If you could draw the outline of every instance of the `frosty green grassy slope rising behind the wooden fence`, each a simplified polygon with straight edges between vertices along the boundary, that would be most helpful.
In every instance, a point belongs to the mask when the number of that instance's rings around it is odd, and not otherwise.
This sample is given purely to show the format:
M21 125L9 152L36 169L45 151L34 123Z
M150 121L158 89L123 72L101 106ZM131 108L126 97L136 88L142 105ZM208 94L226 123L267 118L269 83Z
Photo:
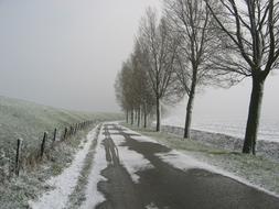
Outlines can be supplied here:
M0 152L12 152L15 140L22 138L24 144L34 146L44 131L54 128L60 131L71 123L84 120L116 120L116 113L88 113L55 109L29 101L0 97Z

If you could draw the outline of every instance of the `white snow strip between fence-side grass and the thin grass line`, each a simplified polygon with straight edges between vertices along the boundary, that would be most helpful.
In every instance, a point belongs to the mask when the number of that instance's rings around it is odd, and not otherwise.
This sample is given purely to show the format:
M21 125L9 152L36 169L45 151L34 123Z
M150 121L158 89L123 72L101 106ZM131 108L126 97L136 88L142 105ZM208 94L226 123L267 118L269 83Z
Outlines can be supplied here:
M54 187L43 194L37 201L30 201L29 205L33 209L62 209L66 206L68 196L74 191L77 184L79 173L84 166L85 157L94 141L96 128L87 135L87 141L83 142L83 148L79 150L71 166L65 168L58 176L52 177L46 182L47 185Z

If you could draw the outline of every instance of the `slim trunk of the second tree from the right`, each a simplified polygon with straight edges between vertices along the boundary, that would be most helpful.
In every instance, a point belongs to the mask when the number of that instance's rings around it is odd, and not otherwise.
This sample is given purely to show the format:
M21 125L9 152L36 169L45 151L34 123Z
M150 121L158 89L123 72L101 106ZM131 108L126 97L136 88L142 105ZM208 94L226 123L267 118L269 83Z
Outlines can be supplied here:
M196 76L197 76L197 68L193 67L192 84L191 84L191 90L190 90L189 99L187 99L187 107L186 107L184 139L191 138L190 131L191 131L192 113L193 113L193 106L194 106L194 98L195 98Z

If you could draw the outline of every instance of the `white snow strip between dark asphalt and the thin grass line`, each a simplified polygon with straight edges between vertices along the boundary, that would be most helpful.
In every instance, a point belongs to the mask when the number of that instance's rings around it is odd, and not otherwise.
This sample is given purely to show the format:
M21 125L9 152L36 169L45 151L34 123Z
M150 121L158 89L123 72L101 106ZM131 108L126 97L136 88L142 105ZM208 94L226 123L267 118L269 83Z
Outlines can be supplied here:
M104 135L99 136L98 139L96 153L93 162L93 168L92 173L89 174L88 184L86 187L86 201L82 205L81 209L95 208L98 204L106 200L104 195L100 191L98 191L97 188L97 184L100 180L107 180L100 174L100 172L107 167L107 162L105 160L106 153L105 148L101 145L104 139L105 139Z

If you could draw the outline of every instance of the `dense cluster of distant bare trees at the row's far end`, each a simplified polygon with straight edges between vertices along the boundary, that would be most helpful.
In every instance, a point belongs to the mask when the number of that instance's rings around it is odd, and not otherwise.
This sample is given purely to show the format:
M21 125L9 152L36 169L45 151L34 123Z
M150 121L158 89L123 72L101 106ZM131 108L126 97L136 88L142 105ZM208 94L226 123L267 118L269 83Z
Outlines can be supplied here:
M126 112L126 121L140 125L143 118L144 128L154 106L146 66L146 54L140 50L139 43L136 43L135 52L122 63L115 82L116 98Z

